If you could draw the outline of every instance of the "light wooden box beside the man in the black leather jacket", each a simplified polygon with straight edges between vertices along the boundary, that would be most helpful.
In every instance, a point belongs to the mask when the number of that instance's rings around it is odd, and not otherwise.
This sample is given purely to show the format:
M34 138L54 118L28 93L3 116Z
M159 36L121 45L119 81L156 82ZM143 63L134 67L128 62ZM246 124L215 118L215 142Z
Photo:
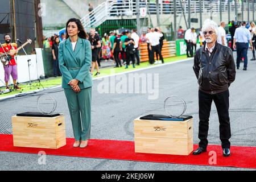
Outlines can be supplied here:
M193 118L187 121L134 120L135 152L189 155L193 151Z

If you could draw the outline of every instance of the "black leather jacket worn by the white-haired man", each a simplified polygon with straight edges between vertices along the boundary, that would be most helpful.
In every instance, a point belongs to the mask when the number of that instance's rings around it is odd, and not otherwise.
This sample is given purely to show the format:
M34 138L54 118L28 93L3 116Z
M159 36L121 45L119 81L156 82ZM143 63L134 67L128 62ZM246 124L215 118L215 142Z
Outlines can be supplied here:
M209 94L225 92L236 78L232 50L216 43L209 56L205 46L197 49L193 70L201 91Z

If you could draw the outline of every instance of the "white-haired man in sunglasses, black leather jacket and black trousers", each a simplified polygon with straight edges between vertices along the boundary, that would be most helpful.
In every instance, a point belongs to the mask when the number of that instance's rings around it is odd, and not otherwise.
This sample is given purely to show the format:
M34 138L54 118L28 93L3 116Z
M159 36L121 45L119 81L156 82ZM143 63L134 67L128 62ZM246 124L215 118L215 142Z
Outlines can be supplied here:
M207 151L207 135L212 101L220 122L220 140L223 156L230 155L229 86L236 77L232 50L217 43L217 24L205 21L202 28L205 45L197 49L193 70L199 83L199 148L193 155Z

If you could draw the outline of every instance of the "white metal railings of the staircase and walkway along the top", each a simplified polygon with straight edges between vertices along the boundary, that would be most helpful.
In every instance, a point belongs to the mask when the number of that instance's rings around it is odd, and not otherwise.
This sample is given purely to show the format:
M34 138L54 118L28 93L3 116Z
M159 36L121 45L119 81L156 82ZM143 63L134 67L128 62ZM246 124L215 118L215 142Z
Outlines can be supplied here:
M175 0L176 1L176 10L174 10L174 0L159 0L159 14L174 14L182 15L183 13L191 15L200 13L212 12L216 13L225 13L230 11L230 13L247 11L255 11L256 1L248 0L245 1L225 1L225 0ZM201 2L201 9L200 9ZM243 2L243 3L242 3ZM145 7L148 14L156 14L157 6L156 2L152 0L140 1L139 5L136 3L136 0L126 0L126 1L117 1L117 0L107 0L101 5L97 6L92 13L85 15L81 20L85 27L97 27L101 23L105 22L107 19L111 19L113 16L135 16L137 15L137 6ZM189 11L190 10L190 11ZM112 18L113 19L113 18ZM97 20L97 21L96 21Z

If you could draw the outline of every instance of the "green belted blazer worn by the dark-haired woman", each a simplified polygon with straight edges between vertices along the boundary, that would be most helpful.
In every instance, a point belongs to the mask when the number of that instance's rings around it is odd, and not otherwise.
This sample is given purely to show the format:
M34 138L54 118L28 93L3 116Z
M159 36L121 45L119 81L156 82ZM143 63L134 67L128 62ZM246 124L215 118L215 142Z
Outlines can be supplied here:
M91 65L92 49L88 40L79 38L75 52L69 38L60 43L59 67L62 73L62 88L72 89L68 82L75 78L79 80L80 89L91 87L93 85L90 75Z

